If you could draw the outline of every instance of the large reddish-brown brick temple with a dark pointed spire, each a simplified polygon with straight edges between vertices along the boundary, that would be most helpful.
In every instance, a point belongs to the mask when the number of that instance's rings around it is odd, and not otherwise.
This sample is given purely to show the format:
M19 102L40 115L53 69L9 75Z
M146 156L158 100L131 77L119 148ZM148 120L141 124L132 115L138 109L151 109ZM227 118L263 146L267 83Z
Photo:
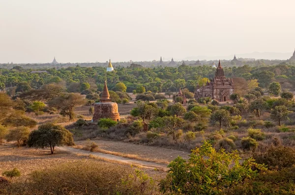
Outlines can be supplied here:
M217 101L229 101L233 93L234 81L224 76L224 71L219 60L214 79L210 79L210 82L207 81L203 86L197 85L195 99L211 97Z

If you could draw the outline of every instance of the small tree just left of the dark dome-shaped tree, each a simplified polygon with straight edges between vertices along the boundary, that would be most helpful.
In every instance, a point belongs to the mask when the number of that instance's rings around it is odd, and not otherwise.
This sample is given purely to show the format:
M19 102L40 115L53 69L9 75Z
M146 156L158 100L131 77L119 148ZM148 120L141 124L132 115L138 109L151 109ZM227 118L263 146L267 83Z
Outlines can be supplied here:
M21 142L26 142L29 138L29 128L25 126L21 126L15 129L12 129L7 134L7 141L16 141L17 147L19 148L21 145Z

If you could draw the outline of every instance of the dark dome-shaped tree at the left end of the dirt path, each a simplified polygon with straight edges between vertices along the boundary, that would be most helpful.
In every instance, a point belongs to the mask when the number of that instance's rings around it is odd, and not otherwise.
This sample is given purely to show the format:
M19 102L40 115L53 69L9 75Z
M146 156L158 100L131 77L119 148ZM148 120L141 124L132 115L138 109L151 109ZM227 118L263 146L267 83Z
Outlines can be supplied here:
M73 135L60 125L45 123L33 130L29 134L28 146L34 148L50 147L51 154L56 146L72 146L74 144Z

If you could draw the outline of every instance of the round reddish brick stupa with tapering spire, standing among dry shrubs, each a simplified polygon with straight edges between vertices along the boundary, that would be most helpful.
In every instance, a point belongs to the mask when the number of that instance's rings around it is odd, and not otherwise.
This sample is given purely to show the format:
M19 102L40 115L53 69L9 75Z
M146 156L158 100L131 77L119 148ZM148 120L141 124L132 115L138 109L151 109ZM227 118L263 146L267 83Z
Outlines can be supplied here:
M99 101L99 103L94 104L93 121L98 121L102 118L110 118L114 121L120 120L118 104L116 102L112 102L112 99L110 99L106 81Z

